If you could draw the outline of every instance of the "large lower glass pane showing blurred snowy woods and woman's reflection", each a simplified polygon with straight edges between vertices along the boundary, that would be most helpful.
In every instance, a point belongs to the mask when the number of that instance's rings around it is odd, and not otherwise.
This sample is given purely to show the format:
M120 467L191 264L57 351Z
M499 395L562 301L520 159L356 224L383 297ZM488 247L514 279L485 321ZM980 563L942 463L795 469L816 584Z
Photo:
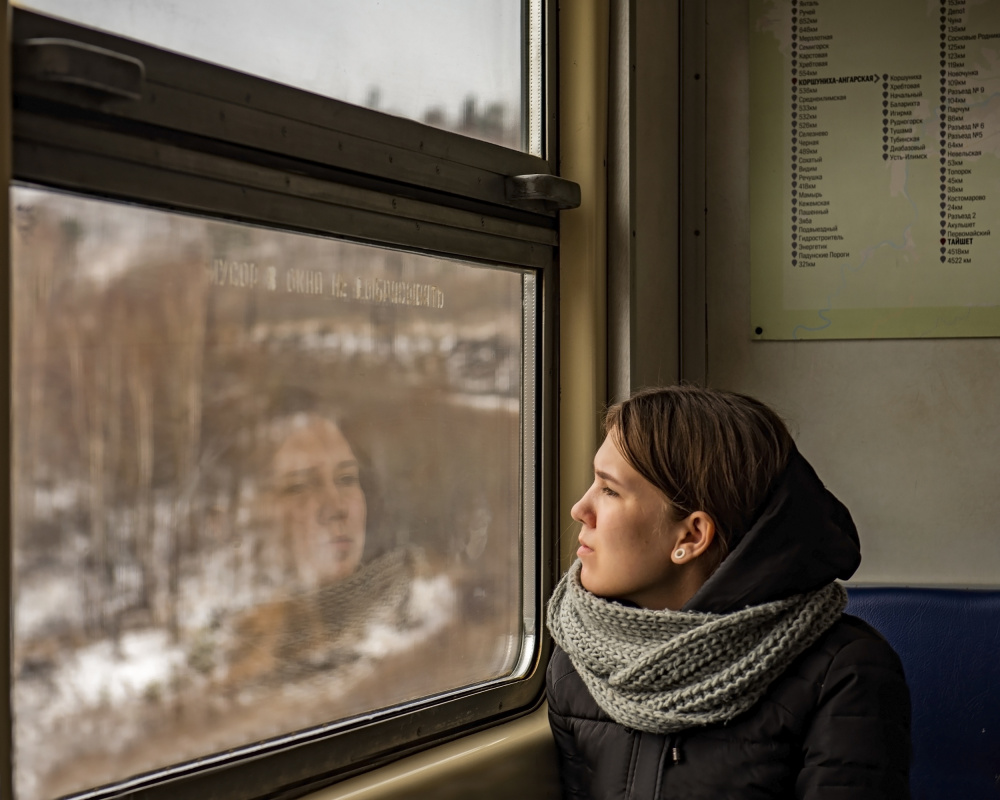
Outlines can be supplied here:
M516 671L533 274L12 208L18 800Z

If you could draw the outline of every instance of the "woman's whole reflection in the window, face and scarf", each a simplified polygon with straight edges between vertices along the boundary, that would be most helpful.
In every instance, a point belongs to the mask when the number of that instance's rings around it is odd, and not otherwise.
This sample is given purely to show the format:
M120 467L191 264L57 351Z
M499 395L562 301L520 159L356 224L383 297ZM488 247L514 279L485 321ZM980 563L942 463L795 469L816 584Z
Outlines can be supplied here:
M405 649L445 624L450 612L441 605L453 589L426 578L418 550L367 555L367 471L341 426L303 412L270 431L263 499L291 591L237 622L230 682L329 673Z

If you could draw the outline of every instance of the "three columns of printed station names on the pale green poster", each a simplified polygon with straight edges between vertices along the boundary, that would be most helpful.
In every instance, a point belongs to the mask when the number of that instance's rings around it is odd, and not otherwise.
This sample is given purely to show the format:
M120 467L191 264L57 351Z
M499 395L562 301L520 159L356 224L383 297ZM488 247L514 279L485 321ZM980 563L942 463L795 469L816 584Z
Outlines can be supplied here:
M824 120L832 120L837 106L848 100L848 93L855 88L851 84L873 83L881 84L882 159L940 159L940 260L971 263L974 240L991 232L980 224L989 198L966 189L973 174L970 162L982 154L976 143L983 138L985 127L981 120L970 118L970 101L984 89L972 85L979 70L969 63L967 47L970 41L998 38L1000 33L969 32L967 0L940 0L941 47L940 54L934 55L940 55L941 91L940 98L933 96L933 90L927 97L922 72L830 76L827 67L835 35L823 29L822 17L827 10L824 7L830 6L831 14L836 8L822 0L791 0L791 5L792 266L815 267L826 260L851 256L837 209L823 190L824 174L833 166L829 158L824 162L824 142L830 135ZM921 109L928 107L922 105L925 97L931 101L929 120L921 116ZM939 104L933 102L938 99ZM928 143L922 130L928 122L932 128L935 119L939 121L940 140Z

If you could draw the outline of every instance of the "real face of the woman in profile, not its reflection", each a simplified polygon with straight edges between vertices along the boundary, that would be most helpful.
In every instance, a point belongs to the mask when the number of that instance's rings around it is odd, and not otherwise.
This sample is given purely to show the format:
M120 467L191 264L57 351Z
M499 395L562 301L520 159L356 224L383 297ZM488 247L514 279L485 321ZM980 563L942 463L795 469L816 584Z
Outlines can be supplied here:
M583 587L641 608L667 608L679 567L671 560L678 523L660 491L622 456L608 435L594 456L594 483L573 506Z

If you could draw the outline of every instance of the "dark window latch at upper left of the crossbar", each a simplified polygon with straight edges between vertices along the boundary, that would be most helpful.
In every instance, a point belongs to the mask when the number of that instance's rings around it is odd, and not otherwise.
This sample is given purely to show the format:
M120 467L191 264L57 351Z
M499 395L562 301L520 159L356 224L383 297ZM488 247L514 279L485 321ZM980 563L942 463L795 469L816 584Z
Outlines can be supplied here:
M127 100L142 98L146 74L138 58L72 39L56 38L17 43L14 70L21 78L67 84Z

